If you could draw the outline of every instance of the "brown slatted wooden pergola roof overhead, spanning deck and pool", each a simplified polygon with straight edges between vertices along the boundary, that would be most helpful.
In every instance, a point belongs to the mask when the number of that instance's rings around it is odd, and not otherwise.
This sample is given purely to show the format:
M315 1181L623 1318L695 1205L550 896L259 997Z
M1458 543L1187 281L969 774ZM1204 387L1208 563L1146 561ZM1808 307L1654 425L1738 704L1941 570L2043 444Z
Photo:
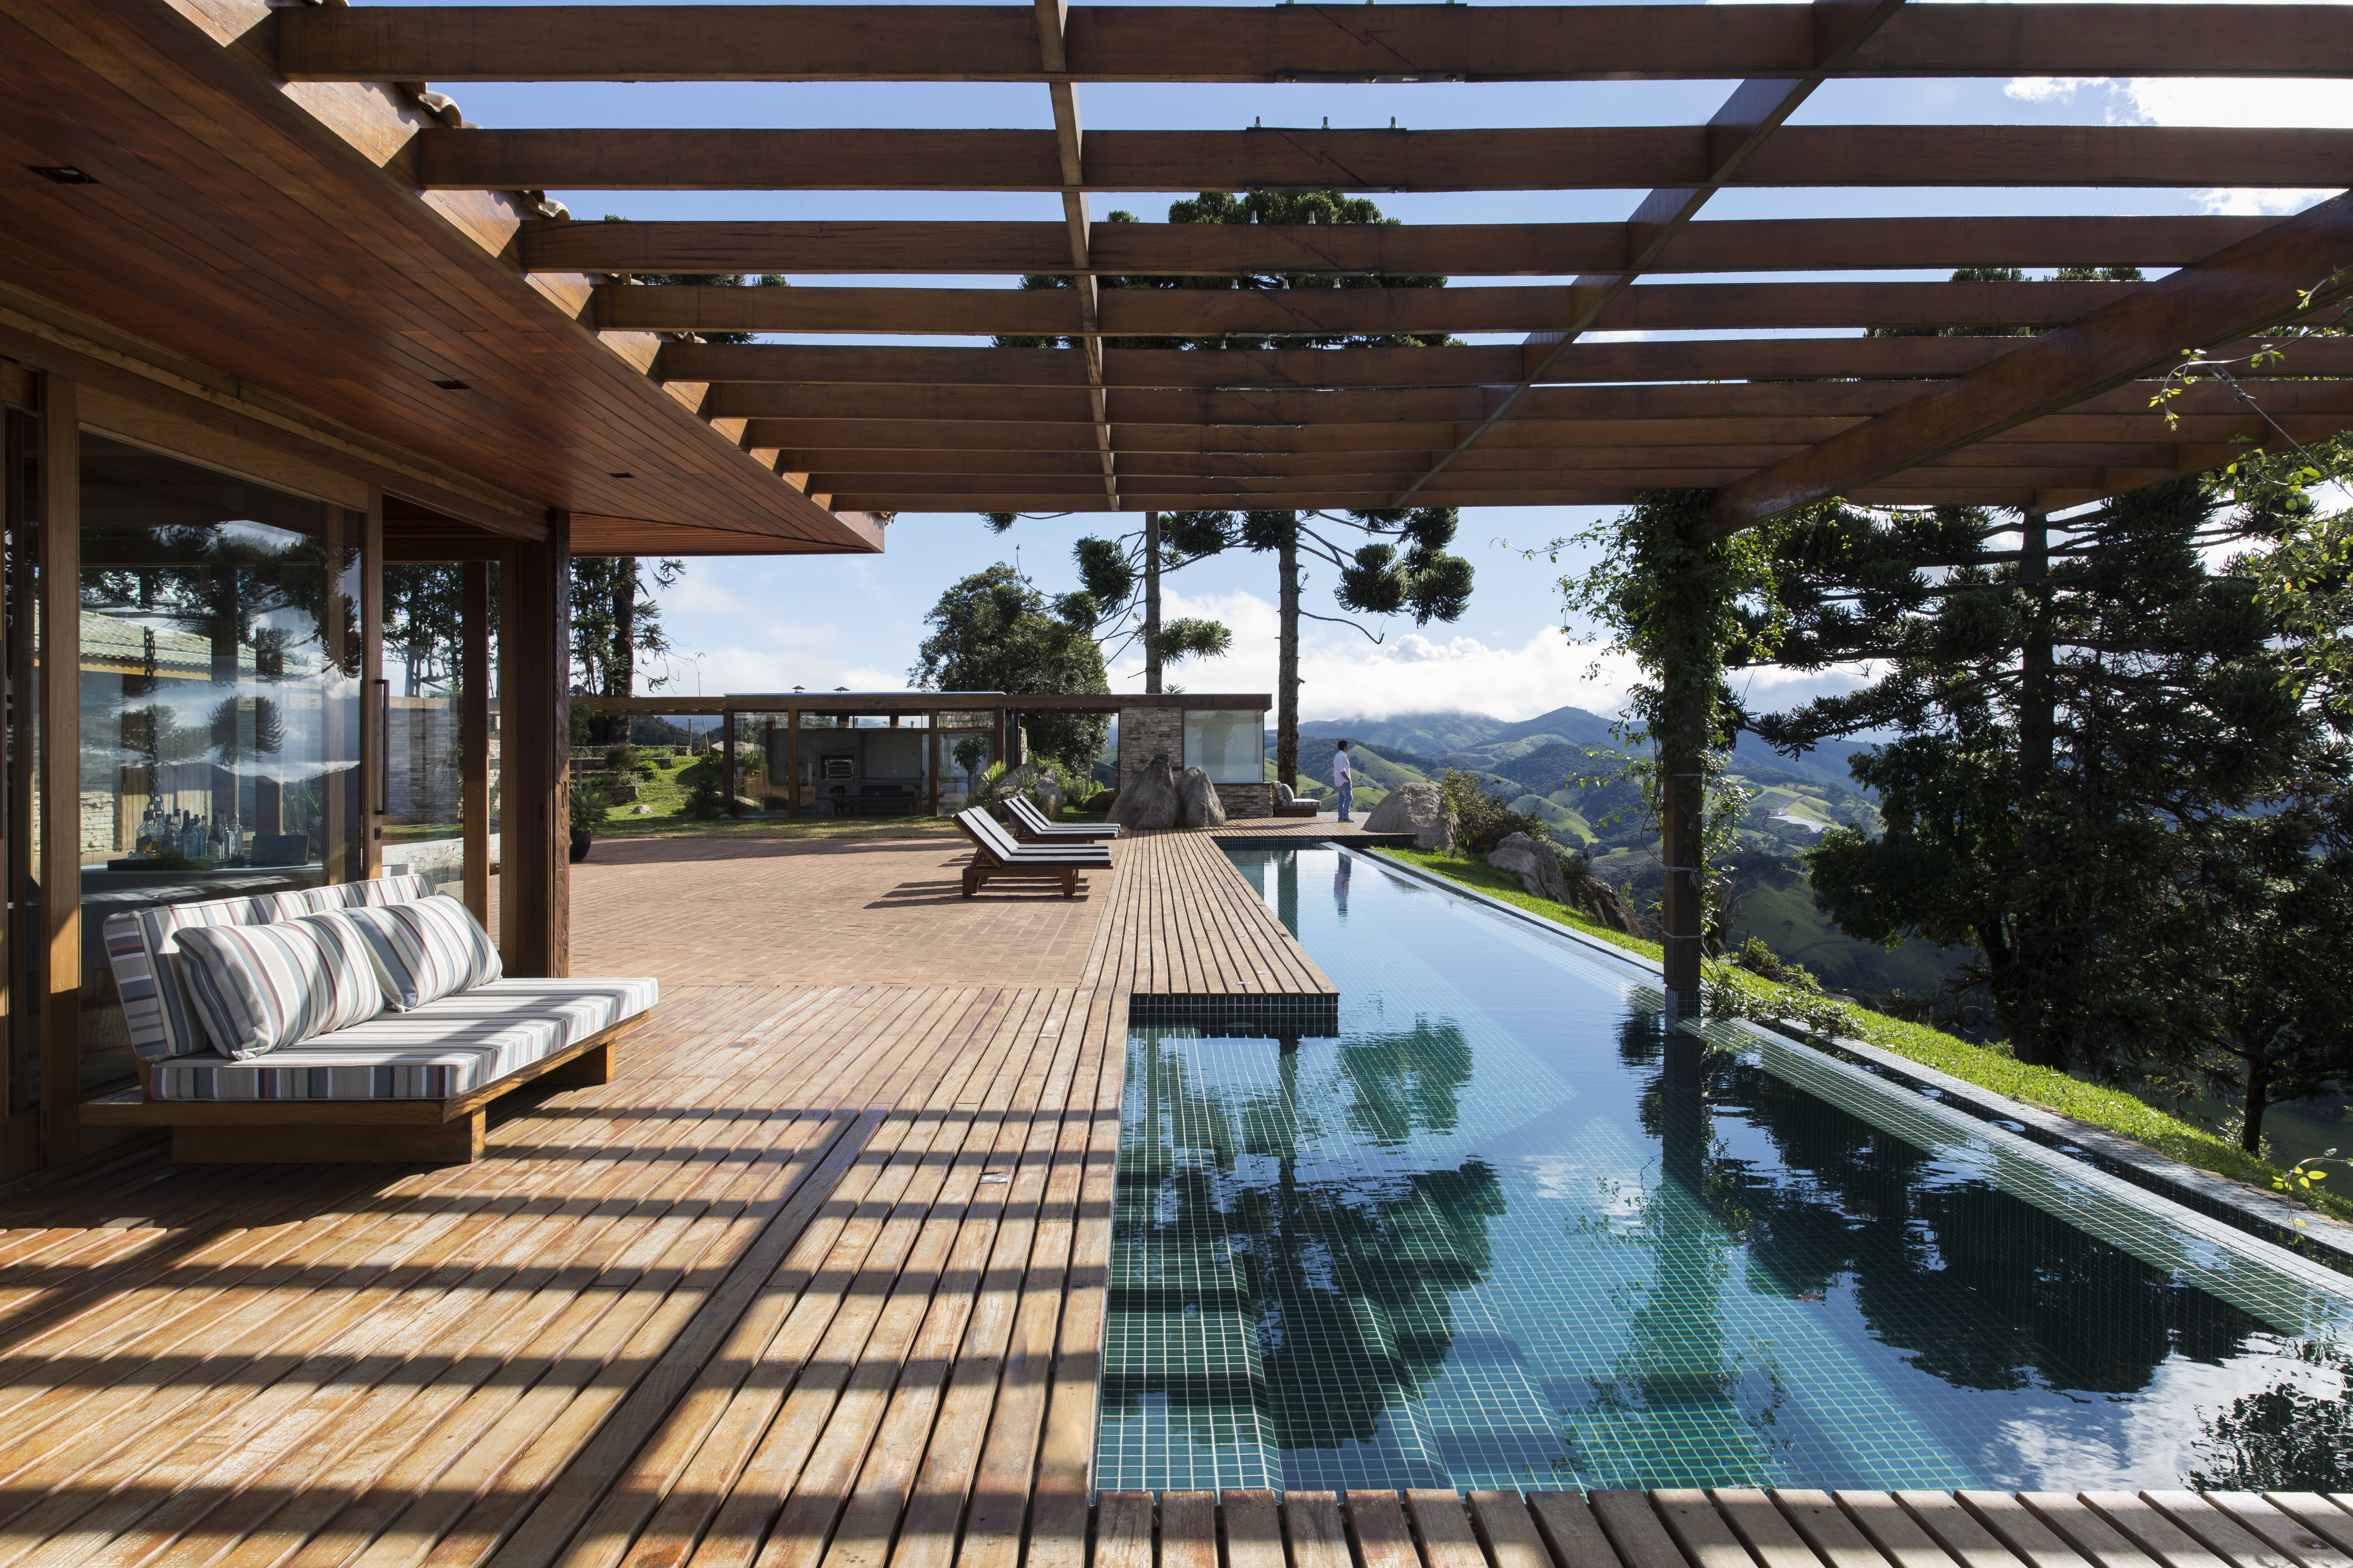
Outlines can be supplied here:
M2344 183L2353 132L1802 125L1835 78L2344 75L2329 5L294 7L296 82L1040 82L1054 129L478 129L414 141L433 190L1038 190L1064 223L532 221L529 270L600 277L600 331L840 510L1621 503L1718 489L1722 529L1821 496L2049 510L2353 418L2353 346L2264 388L2146 386L2186 348L2332 299L2353 214L1701 221L1725 188ZM1706 125L1082 132L1080 85L1744 78ZM454 118L454 115L449 115ZM1094 226L1089 190L1607 190L1624 223ZM2174 268L2113 282L1673 282L1955 266ZM638 287L638 273L1066 273L1071 289ZM1442 289L1096 289L1099 275L1445 273ZM1553 277L1511 284L1497 277ZM2320 294L2306 296L2306 289ZM2033 339L1744 339L2028 327ZM1593 334L1718 339L1591 341ZM715 346L704 331L842 334ZM1464 348L1104 348L1214 334L1518 334ZM859 346L1038 334L1078 348Z

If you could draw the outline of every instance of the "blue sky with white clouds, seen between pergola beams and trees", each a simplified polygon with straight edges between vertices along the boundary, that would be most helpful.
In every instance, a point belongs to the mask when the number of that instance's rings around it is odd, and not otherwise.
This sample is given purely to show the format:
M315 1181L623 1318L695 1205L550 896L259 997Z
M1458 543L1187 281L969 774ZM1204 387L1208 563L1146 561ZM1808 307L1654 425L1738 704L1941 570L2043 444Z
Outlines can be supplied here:
M1918 0L1915 0L1918 2ZM1706 120L1732 82L1562 82L1562 85L1209 85L1082 87L1080 120L1094 129L1238 129L1268 125L1412 129L1480 125L1692 125ZM842 85L842 82L647 82L449 87L468 120L487 127L1007 127L1052 125L1038 85ZM1831 82L1800 125L2353 125L2353 87L2341 82ZM600 193L555 190L576 219L1033 219L1059 221L1045 193ZM1706 219L1901 216L1901 214L2177 214L2294 212L2315 190L1729 190ZM1096 219L1125 207L1146 221L1167 216L1169 195L1096 195ZM1379 197L1409 223L1527 223L1624 219L1635 190L1438 193ZM1729 277L1729 275L1727 275ZM1777 273L1774 277L1793 277ZM1918 273L1882 273L1918 277ZM795 277L807 284L896 282L932 287L1014 287L1012 277ZM1541 282L1541 280L1497 280ZM1699 280L1694 280L1699 282ZM1475 284L1473 284L1475 287ZM1704 336L1704 334L1689 334ZM788 339L776 339L788 341ZM807 339L819 341L819 339ZM821 339L840 341L840 339ZM892 341L892 339L868 339ZM976 339L896 339L960 343ZM1473 339L1501 341L1501 339ZM1301 712L1379 717L1426 708L1468 708L1529 717L1558 705L1612 710L1628 670L1562 635L1558 578L1565 564L1527 562L1522 550L1579 534L1600 508L1466 510L1457 548L1478 569L1471 611L1457 625L1344 625L1304 635ZM1047 592L1075 588L1071 541L1118 534L1136 515L1026 520L993 536L967 512L901 515L880 557L696 559L664 595L680 658L671 691L779 691L805 686L896 689L922 639L922 616L955 578L1016 559ZM1167 614L1209 614L1235 630L1235 649L1174 679L1195 691L1273 686L1273 567L1238 555L1188 567L1167 583ZM1308 576L1304 604L1337 614L1332 571ZM1581 632L1581 628L1572 628ZM699 656L699 658L696 658ZM659 677L661 670L649 672ZM1831 684L1847 684L1833 677ZM1115 689L1139 689L1132 658L1113 665ZM1762 675L1753 701L1781 705L1819 682Z

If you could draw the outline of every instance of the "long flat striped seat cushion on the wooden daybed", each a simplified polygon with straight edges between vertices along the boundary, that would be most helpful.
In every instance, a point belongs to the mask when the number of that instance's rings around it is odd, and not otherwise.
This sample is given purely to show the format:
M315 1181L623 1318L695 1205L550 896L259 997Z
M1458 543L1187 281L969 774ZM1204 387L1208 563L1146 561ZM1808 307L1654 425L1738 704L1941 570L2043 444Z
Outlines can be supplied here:
M492 980L268 1056L176 1058L155 1100L447 1100L654 1006L654 980Z

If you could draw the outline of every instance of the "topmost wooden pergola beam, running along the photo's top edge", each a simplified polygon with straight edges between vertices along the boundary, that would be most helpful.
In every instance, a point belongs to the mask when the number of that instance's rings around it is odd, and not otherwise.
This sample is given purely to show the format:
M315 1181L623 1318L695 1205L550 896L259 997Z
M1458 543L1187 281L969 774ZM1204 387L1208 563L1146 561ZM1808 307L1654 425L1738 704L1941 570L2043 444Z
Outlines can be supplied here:
M2346 75L2327 5L1922 7L1842 75ZM1814 68L1802 5L1073 7L1040 61L1012 5L318 7L278 16L296 82L1732 80Z

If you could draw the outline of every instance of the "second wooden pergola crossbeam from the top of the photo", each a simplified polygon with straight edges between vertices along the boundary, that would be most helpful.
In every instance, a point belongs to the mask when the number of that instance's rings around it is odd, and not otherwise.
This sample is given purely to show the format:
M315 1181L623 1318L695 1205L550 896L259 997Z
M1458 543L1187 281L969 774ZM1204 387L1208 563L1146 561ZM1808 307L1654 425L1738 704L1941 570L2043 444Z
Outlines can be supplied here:
M426 190L1626 190L1715 179L1711 129L1094 132L1071 181L1054 132L433 129ZM2353 129L1802 125L1722 183L2332 186Z

